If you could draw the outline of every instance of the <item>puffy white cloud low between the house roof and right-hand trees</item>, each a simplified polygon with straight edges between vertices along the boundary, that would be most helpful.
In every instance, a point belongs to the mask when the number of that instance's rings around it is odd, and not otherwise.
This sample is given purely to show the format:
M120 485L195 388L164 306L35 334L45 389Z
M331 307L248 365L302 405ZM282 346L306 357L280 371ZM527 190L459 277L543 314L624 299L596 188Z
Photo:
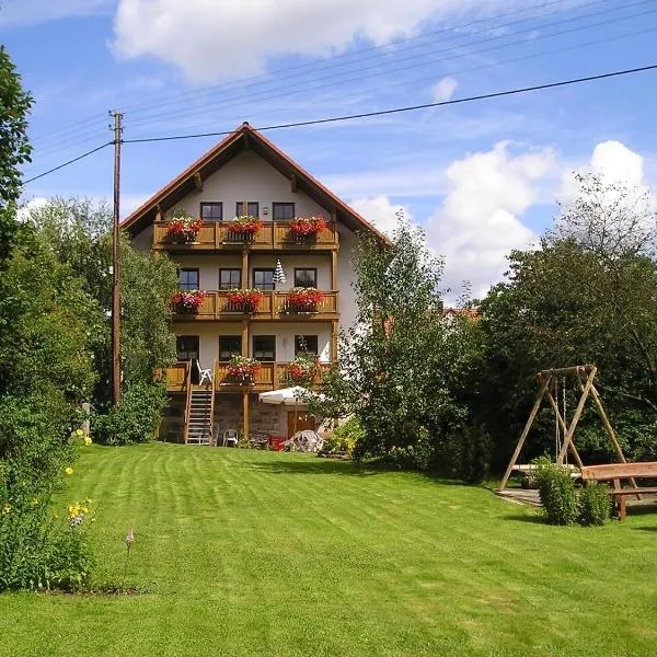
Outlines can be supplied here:
M535 234L520 217L539 199L539 181L555 164L550 149L514 154L509 142L453 162L449 192L426 226L429 245L446 256L445 284L457 296L464 280L475 297L499 280L511 249Z

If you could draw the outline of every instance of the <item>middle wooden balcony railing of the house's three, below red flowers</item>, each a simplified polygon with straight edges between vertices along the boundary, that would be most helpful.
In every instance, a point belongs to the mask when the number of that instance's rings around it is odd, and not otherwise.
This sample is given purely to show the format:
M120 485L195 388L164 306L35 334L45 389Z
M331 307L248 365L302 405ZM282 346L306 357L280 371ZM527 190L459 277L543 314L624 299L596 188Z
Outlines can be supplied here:
M326 322L339 319L337 292L323 292L324 299L312 312L297 312L287 300L287 292L264 292L254 313L245 313L228 300L228 290L207 292L197 313L174 313L176 322L241 322L283 320L286 322Z

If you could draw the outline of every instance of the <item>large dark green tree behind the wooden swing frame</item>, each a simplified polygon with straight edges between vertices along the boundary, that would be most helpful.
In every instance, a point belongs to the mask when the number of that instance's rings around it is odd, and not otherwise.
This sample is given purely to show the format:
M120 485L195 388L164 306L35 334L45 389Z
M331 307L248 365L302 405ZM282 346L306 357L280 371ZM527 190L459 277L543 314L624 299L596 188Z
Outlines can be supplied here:
M534 373L588 362L599 368L598 385L613 420L634 427L634 438L621 433L630 451L645 456L657 445L652 205L641 191L607 187L595 176L578 180L579 195L562 208L541 247L511 253L507 280L482 303L487 385L475 405L497 437L500 460L529 412ZM573 402L577 391L575 385ZM532 443L539 452L554 440L548 422L545 416L542 440ZM603 457L593 426L585 414L583 433Z

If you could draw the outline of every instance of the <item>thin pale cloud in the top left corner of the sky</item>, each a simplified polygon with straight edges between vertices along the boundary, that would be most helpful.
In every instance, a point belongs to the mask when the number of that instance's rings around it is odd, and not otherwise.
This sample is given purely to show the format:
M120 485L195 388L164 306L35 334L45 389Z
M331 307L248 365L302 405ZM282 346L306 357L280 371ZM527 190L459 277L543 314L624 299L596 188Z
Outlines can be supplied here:
M113 5L113 0L8 0L0 9L0 26L34 25L104 13Z

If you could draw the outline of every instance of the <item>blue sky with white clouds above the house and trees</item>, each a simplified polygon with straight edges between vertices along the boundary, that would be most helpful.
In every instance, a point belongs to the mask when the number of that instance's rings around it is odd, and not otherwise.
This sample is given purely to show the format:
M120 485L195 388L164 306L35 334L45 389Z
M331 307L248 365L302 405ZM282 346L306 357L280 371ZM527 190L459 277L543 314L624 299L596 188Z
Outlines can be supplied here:
M36 100L26 177L111 139L222 131L657 64L655 0L4 0L1 43ZM576 168L655 183L657 71L266 132L383 230L402 207L485 292L535 242ZM126 145L129 211L218 138ZM25 199L111 197L112 151ZM124 212L124 214L125 214Z

